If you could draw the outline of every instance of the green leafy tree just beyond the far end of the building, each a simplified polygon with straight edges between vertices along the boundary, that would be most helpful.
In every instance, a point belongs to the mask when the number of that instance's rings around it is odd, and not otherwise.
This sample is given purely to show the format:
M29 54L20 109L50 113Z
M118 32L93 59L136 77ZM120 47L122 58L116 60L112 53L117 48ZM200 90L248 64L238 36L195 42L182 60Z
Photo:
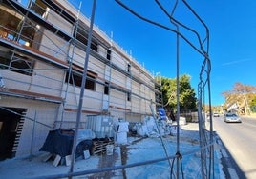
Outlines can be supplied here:
M194 110L196 109L196 94L195 89L190 85L191 77L187 74L180 77L180 109ZM163 105L167 111L177 110L177 79L161 77L161 87L163 96Z

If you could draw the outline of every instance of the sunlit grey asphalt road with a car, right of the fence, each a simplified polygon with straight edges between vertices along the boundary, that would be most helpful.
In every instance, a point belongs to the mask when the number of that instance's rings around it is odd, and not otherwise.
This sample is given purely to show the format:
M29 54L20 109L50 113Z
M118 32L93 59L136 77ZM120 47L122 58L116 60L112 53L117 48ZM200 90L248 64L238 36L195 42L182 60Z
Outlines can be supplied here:
M255 179L256 118L244 117L242 123L225 123L223 116L213 117L213 129L221 138L228 154L234 159L234 166L237 164L239 170L244 172L245 178ZM234 169L238 170L236 167Z

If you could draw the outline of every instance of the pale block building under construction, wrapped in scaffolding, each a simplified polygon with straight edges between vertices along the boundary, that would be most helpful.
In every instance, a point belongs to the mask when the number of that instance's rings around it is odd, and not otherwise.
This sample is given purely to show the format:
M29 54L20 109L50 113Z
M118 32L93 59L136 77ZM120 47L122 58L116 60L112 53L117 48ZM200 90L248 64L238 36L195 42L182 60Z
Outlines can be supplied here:
M160 85L68 1L0 1L0 159L38 151L51 129L80 129L87 116L140 122L160 106Z

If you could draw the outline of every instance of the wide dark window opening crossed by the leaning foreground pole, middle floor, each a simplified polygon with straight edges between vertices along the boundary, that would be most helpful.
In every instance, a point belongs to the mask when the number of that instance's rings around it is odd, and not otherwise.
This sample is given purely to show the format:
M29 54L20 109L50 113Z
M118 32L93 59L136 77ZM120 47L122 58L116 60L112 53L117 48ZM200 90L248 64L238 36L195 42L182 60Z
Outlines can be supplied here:
M65 82L71 85L75 85L75 87L81 87L82 85L82 74L73 71L70 75L66 73ZM92 71L87 72L86 82L85 82L85 89L96 90L96 73Z

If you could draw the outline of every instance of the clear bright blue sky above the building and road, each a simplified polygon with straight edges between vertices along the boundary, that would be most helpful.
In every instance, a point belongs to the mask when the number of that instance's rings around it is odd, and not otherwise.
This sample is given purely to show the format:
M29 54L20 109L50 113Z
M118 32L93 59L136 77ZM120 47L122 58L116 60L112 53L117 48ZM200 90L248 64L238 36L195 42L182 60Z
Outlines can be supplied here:
M81 12L91 16L93 0L73 1L75 7L82 2ZM171 29L175 27L154 0L122 0L140 15ZM168 11L174 1L160 0ZM211 60L212 105L224 103L222 92L233 88L236 82L256 86L256 1L187 0L210 32L209 56ZM179 0L174 18L196 30L202 38L205 29ZM141 65L152 73L176 77L176 34L170 30L140 20L120 7L114 0L97 0L95 24L124 50L131 53ZM181 33L199 47L195 35L187 30ZM180 40L180 74L189 74L192 87L198 90L203 56Z

